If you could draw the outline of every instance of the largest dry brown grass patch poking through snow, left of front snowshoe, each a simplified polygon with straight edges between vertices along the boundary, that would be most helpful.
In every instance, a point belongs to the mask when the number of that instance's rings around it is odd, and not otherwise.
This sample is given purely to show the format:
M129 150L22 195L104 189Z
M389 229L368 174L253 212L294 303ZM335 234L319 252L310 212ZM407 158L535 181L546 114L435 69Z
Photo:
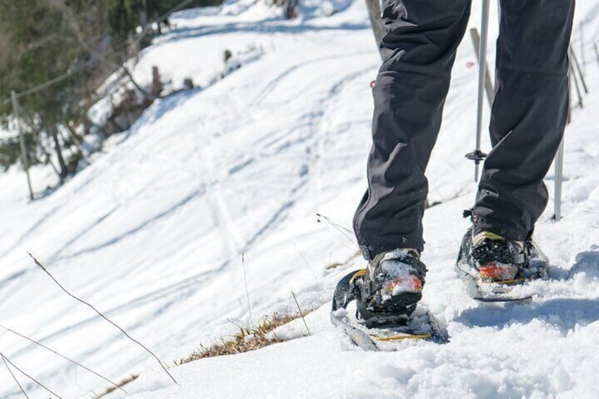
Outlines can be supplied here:
M309 312L307 312L309 313ZM305 314L304 314L305 316ZM205 357L215 357L223 355L235 355L237 353L249 352L250 350L260 349L275 343L282 343L283 340L278 338L271 332L283 324L287 324L296 318L302 317L301 314L280 315L273 313L273 316L265 318L259 325L244 328L239 328L239 333L232 335L229 340L221 338L220 342L215 342L208 347L200 346L198 350L194 350L188 357L176 360L175 365L194 362L194 360L203 359Z

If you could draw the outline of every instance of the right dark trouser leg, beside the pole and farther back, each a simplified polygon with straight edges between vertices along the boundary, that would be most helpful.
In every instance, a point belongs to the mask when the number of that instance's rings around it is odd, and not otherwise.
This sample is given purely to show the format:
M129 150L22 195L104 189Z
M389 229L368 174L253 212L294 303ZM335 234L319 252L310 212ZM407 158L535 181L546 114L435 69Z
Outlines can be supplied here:
M498 90L473 208L476 226L523 241L547 206L543 177L568 114L568 46L574 0L502 1Z

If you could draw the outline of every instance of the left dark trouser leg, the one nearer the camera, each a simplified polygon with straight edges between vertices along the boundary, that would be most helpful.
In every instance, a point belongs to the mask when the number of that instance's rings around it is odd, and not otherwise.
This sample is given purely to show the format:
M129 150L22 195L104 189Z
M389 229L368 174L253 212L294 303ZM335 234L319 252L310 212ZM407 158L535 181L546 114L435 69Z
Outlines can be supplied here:
M374 85L368 185L354 217L364 258L422 251L425 169L437 140L470 0L384 0L384 61Z

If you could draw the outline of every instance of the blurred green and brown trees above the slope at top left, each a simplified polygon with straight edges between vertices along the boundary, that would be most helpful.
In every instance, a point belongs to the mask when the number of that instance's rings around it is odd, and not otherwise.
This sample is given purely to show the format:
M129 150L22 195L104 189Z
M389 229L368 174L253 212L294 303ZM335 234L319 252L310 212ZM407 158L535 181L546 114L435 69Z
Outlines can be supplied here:
M0 167L17 163L25 148L25 165L50 164L61 181L73 173L90 130L106 136L129 127L93 126L88 119L100 85L114 73L128 78L129 104L115 104L115 112L141 113L162 93L160 84L143 88L131 76L138 52L169 27L174 11L222 1L0 0ZM14 133L17 120L23 145Z

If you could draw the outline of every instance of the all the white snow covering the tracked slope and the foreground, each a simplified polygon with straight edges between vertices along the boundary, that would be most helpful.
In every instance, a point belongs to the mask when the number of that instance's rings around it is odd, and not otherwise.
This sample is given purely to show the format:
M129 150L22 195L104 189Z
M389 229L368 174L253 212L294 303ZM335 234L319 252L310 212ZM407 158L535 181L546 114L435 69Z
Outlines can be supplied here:
M328 321L336 281L362 266L346 229L365 189L369 83L379 56L362 0L302 4L293 21L261 0L178 13L135 74L143 81L158 65L173 85L189 76L203 90L157 102L89 167L35 202L18 169L0 174L0 325L113 380L141 373L126 386L134 398L596 397L599 73L590 54L599 2L577 4L591 93L567 128L564 219L552 222L550 205L536 232L551 280L535 286L530 304L485 306L465 296L453 273L468 224L461 210L474 192L473 166L463 159L473 149L477 81L466 36L427 172L430 200L443 203L425 215L425 302L451 343L386 353L357 350ZM326 17L331 7L339 12ZM471 25L479 15L475 4ZM215 80L225 49L250 48L261 55ZM42 192L52 172L36 168L32 179ZM550 172L550 193L552 179ZM317 222L316 213L340 227ZM27 251L167 364L235 332L232 322L249 324L242 254L254 320L295 311L293 291L302 308L316 309L307 317L312 336L303 338L295 321L279 334L297 339L172 367L174 385L143 350L61 292ZM109 387L2 331L0 351L64 398ZM1 370L0 397L18 398ZM17 376L30 397L48 396Z

